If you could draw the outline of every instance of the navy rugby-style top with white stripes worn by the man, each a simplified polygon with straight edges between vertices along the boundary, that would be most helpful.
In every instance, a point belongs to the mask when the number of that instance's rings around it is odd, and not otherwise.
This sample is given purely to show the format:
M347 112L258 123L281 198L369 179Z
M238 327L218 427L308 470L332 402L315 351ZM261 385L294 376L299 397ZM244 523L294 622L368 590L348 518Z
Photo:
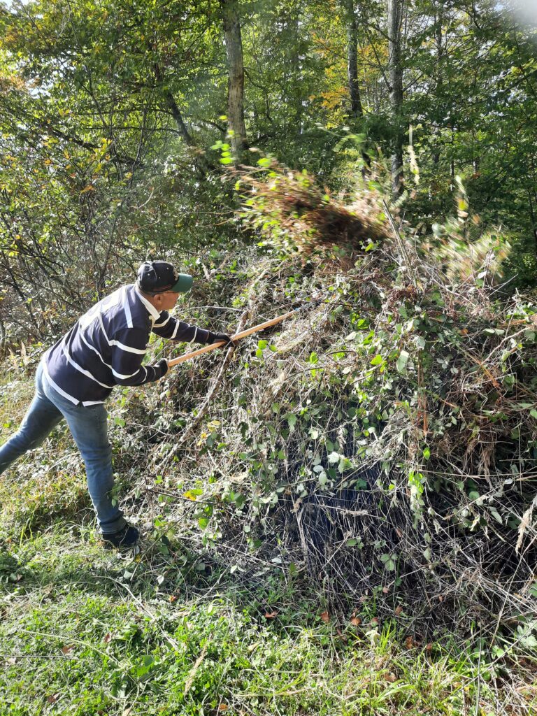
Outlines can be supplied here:
M210 332L159 313L135 285L122 286L95 304L44 355L50 384L75 405L102 403L115 385L142 385L162 377L143 366L150 333L207 343Z

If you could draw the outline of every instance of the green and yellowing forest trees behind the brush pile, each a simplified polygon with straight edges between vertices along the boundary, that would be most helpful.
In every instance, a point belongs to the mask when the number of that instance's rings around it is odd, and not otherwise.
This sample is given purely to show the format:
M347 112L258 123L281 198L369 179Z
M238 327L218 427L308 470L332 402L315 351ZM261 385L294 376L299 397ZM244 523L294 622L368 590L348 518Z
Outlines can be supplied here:
M218 176L270 155L342 195L374 170L417 236L462 201L533 286L536 32L493 0L4 4L10 336L57 332L54 306L71 320L140 254L233 236Z

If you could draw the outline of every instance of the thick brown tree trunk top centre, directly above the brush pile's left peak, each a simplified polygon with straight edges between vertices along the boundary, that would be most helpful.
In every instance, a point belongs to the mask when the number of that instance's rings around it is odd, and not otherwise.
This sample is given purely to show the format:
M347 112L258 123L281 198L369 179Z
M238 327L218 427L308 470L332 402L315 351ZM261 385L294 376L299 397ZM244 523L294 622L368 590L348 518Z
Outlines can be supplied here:
M233 154L236 162L240 162L246 145L241 19L237 0L221 0L221 8L228 58L228 127Z

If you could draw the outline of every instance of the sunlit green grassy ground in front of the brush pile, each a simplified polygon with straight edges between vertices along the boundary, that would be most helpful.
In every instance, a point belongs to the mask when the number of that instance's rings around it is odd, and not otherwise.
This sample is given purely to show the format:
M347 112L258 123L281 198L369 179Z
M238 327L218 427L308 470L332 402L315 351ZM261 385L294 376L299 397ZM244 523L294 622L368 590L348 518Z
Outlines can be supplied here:
M28 381L4 391L4 440ZM412 615L333 614L274 565L228 569L188 533L139 553L99 541L69 436L0 478L0 715L537 713L534 661Z

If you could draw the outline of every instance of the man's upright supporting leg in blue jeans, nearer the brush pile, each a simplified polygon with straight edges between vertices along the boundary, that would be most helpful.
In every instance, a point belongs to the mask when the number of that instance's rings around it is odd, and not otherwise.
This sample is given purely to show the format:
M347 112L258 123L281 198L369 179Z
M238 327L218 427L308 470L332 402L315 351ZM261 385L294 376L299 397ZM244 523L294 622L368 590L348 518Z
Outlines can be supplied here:
M52 397L56 401L57 393ZM117 503L112 504L110 495L114 477L105 406L102 403L89 407L62 404L61 410L86 466L87 488L100 529L105 534L117 532L127 523Z

